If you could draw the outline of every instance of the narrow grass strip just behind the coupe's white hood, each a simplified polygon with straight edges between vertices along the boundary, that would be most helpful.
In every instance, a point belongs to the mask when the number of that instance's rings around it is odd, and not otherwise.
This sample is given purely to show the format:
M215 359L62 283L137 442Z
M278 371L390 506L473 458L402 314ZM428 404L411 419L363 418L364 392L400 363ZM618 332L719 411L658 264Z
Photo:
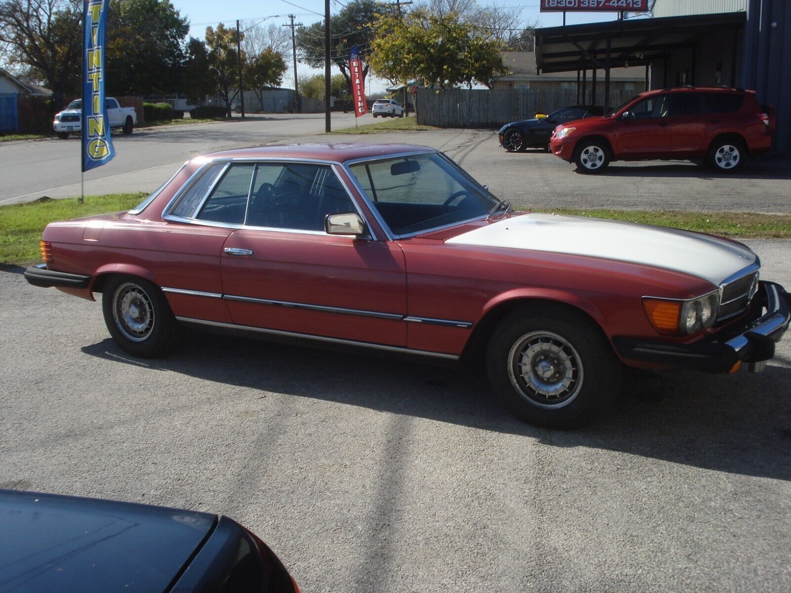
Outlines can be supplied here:
M791 215L752 212L689 212L685 210L606 210L553 208L539 209L557 214L573 214L673 229L708 232L711 235L753 238L791 237Z

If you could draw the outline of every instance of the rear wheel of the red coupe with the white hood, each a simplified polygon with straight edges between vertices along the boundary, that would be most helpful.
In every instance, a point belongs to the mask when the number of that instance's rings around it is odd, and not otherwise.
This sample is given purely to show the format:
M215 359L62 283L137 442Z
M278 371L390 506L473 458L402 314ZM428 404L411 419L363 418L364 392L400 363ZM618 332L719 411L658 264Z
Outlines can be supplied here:
M104 283L104 323L122 349L153 358L176 346L181 326L161 289L143 278L115 275Z

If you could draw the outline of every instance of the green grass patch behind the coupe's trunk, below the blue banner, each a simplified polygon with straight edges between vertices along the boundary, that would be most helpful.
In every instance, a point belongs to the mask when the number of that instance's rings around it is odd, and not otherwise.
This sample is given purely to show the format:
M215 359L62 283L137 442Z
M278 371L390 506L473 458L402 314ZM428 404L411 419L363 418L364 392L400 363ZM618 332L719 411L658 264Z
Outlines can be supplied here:
M39 263L39 241L44 227L51 221L129 210L142 202L146 194L112 194L46 200L0 206L0 263L27 266Z

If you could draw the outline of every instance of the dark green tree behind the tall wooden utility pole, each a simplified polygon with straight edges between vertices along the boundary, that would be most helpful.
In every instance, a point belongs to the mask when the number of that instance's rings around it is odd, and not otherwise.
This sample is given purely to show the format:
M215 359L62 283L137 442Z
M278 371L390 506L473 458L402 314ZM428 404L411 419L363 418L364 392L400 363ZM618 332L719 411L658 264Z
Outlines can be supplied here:
M354 45L365 61L373 42L373 22L379 13L391 13L392 8L374 0L351 0L339 13L330 17L330 59L339 67L351 88L349 76L349 51ZM297 29L297 51L300 61L319 68L324 66L324 21ZM362 76L368 74L368 63L362 68Z

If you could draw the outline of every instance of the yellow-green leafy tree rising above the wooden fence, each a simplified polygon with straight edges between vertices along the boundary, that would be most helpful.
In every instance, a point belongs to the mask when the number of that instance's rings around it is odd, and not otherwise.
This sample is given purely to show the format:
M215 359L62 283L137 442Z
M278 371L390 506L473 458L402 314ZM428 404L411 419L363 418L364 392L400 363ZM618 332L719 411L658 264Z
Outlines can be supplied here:
M440 89L479 82L491 88L507 70L503 43L479 31L477 25L417 9L403 19L380 17L369 63L380 77L406 84L417 78Z

